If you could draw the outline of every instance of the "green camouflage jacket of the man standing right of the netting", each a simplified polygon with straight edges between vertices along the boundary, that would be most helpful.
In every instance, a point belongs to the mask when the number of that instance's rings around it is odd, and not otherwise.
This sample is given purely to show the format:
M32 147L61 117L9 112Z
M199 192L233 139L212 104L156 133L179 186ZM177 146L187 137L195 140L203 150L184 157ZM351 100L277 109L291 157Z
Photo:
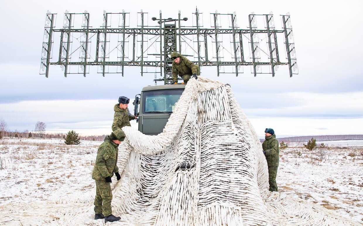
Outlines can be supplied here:
M265 141L262 143L262 149L266 152L265 157L268 166L278 166L279 152L278 140L276 135L265 136Z

